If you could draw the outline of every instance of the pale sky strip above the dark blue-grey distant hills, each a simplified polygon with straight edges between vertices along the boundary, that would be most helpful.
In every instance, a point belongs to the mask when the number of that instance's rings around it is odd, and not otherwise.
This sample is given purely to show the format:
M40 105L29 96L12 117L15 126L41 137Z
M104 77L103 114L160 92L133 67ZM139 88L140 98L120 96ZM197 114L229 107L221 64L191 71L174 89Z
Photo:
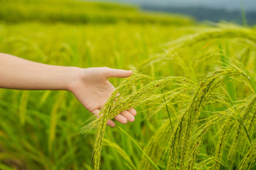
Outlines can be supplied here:
M210 7L226 10L241 10L241 2L246 11L256 11L256 0L101 0L110 2L132 3L135 5L147 4L152 6L171 7Z

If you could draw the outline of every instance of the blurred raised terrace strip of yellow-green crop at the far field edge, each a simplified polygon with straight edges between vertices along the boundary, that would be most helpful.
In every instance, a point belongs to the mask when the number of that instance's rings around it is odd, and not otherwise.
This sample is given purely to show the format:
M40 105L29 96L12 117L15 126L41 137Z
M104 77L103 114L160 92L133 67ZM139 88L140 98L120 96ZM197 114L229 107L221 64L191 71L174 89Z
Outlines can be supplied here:
M8 23L39 21L46 23L160 23L191 25L187 16L141 12L137 7L114 3L63 1L1 0L0 20Z

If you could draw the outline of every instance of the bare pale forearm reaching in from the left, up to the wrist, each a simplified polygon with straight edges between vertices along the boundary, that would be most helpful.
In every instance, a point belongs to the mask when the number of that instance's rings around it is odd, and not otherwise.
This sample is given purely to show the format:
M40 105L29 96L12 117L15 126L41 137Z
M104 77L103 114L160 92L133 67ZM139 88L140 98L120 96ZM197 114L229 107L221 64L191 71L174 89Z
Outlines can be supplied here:
M0 53L0 88L67 90L79 72L77 67L45 65Z

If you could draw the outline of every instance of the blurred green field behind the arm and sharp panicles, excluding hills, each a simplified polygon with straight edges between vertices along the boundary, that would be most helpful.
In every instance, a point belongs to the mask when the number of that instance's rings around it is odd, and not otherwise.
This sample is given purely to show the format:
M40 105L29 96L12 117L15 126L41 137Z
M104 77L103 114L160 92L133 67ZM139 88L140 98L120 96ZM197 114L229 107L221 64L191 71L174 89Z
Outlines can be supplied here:
M136 7L111 3L66 0L0 0L0 3L1 53L51 65L130 69L153 78L182 76L195 84L210 71L225 69L228 63L233 63L239 65L255 85L254 28L196 24L187 16L143 12ZM226 91L218 87L213 92L223 96L227 93L232 97L233 105L244 104L246 107L246 102L255 96L253 85L239 76L226 79L228 83L223 84ZM121 81L110 79L115 87ZM139 88L146 86L146 83L138 84L129 92L136 94ZM162 93L176 87L177 84L167 86ZM181 101L166 104L150 119L145 116L154 112L159 103L142 104L136 108L135 122L117 123L145 148L160 169L170 168L163 149L168 146L172 135L169 120L176 126L181 113L189 105L189 101ZM171 112L170 118L166 108ZM231 108L213 101L205 105L200 111L198 127L204 123L204 118ZM200 163L204 161L209 164L202 164L201 169L214 169L215 162L222 163L216 169L238 168L247 148L256 146L255 109L253 103L248 116L243 118L254 144L250 145L245 131L240 131L241 147L237 147L234 144L236 133L232 133L232 129L236 131L240 127L236 118L230 123L233 126L224 128L221 125L225 121L221 121L205 137L194 168L200 169ZM244 110L238 107L239 114L242 115ZM92 114L66 91L0 89L0 169L93 169L92 151L97 131L90 131L86 136L79 133L81 125L90 116ZM154 144L159 152L148 149L148 143L154 139L151 137L154 133L159 134L163 126L169 130L166 129L159 143ZM225 128L229 129L230 135L227 144L222 145L226 146L225 150L221 149L224 154L218 155L222 158L220 161L214 151L221 145L219 136ZM155 169L120 129L107 127L105 139L101 169ZM229 150L232 147L234 161L230 162ZM252 158L256 159L256 149L251 152ZM251 167L243 167L255 169L253 159L247 160L248 164L252 163ZM183 169L177 164L175 169Z

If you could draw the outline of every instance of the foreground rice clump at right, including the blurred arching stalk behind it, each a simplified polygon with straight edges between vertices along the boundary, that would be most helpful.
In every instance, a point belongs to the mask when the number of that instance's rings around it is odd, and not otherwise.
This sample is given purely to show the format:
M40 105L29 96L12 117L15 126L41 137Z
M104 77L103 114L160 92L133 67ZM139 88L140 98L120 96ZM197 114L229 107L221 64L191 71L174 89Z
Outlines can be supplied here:
M155 60L150 58L144 63L144 66L150 65L152 68L152 63L163 62L163 58L170 54L167 57L168 61L176 63L185 75L196 82L180 76L159 79L134 74L120 83L117 91L112 95L117 100L115 103L112 101L107 118L114 118L118 113L140 105L148 106L144 109L148 113L147 118L152 118L163 112L168 113L164 114L168 116L168 119L152 135L145 148L146 154L155 163L159 163L160 159L166 159L167 169L192 169L197 165L201 165L201 167L198 167L199 169L204 168L202 166L205 166L206 169L220 169L221 165L229 166L229 168L237 167L238 164L233 163L232 158L240 158L240 154L244 151L246 145L252 142L253 137L251 137L250 133L252 132L250 130L255 125L253 123L255 114L251 114L251 112L254 108L255 97L236 101L236 97L234 97L236 96L236 86L227 85L226 89L224 88L225 84L240 82L250 90L250 94L255 94L253 79L248 75L250 73L247 74L247 71L243 71L241 67L236 66L234 64L236 59L226 58L220 42L218 44L219 52L209 49L193 58L192 63L199 66L204 65L206 59L221 56L220 64L222 66L216 67L216 71L206 74L201 80L196 75L198 70L193 69L193 67L189 69L187 63L178 54L181 49L191 48L193 46L192 42L218 38L247 39L253 43L256 40L255 33L252 30L240 27L216 28L213 31L197 33L191 36L191 39L188 39L188 37L182 38L175 41L175 45L172 45L175 50L171 51L174 53L171 54L167 51L165 54L157 54ZM227 53L229 56L229 50L227 50ZM199 82L197 83L197 81ZM139 88L141 83L143 83L143 86ZM136 90L130 94L134 88ZM163 88L168 90L163 90ZM123 97L115 97L117 92ZM224 95L220 94L221 92L224 92ZM106 105L109 105L109 101ZM204 116L202 118L201 113L211 105L222 105L225 110L215 111L213 109L212 112L208 113L209 117ZM176 112L177 108L179 108L178 112ZM102 113L106 115L106 113ZM178 113L181 114L178 115ZM170 116L172 114L175 114L175 116ZM171 126L172 122L174 122L174 128ZM86 129L96 128L98 124L101 124L101 121L96 119L89 125L84 126L82 131L86 132ZM232 131L237 132L233 133ZM214 152L208 153L208 158L205 158L203 162L198 162L203 142L207 139L209 133L219 135L216 143L212 142L210 144L214 145ZM163 137L164 134L168 135ZM101 135L104 135L104 133L101 133ZM239 146L243 146L240 149L237 148L238 141L240 142ZM163 152L165 156L163 156ZM98 155L100 155L100 152L98 152ZM229 164L226 160L222 160L226 159L225 156L229 157ZM100 162L98 158L94 161ZM140 168L154 169L144 155Z

